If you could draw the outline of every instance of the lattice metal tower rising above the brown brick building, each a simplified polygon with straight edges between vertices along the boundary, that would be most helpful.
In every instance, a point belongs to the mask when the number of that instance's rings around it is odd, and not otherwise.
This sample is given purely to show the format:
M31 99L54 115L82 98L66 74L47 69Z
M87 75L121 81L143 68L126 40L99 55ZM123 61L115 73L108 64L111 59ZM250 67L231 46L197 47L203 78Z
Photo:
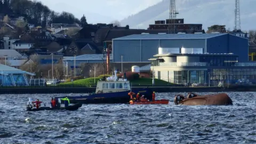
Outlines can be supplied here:
M176 15L179 14L178 11L176 11L175 6L175 0L170 0L170 14L169 14L169 34L171 34L171 31L175 34L176 32ZM173 25L173 29L171 30L171 25Z

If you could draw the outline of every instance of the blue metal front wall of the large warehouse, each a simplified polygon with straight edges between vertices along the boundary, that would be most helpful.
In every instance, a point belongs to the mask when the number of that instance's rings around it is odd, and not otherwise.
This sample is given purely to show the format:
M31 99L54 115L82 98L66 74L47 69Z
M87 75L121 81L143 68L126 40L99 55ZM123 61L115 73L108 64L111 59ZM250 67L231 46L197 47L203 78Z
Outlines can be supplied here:
M149 62L158 47L205 48L205 39L113 40L113 62Z

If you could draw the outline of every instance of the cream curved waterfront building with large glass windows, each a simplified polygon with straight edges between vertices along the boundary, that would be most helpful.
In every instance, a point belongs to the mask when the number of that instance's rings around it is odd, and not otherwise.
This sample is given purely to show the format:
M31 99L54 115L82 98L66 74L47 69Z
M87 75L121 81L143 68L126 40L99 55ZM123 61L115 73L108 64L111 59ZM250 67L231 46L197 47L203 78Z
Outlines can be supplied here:
M177 84L251 84L256 81L256 63L238 62L233 53L203 53L202 49L159 47L151 61L155 78Z

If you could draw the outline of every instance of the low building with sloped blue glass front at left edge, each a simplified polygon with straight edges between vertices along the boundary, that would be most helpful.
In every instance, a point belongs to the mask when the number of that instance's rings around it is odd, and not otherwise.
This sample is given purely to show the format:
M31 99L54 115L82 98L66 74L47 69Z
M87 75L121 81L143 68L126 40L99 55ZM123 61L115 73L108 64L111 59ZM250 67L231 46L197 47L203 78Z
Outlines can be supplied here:
M28 86L27 75L35 74L0 64L0 86Z

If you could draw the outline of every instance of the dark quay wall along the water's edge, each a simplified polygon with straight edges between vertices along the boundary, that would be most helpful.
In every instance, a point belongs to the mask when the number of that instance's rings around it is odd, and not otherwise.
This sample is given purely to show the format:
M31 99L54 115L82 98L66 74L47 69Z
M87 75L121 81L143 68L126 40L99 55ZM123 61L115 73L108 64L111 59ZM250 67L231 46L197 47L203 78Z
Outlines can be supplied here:
M144 86L135 86L132 89L143 89ZM256 86L237 85L232 87L169 87L149 86L152 91L162 92L256 92ZM0 88L0 94L51 94L51 93L90 93L96 87L5 87Z

